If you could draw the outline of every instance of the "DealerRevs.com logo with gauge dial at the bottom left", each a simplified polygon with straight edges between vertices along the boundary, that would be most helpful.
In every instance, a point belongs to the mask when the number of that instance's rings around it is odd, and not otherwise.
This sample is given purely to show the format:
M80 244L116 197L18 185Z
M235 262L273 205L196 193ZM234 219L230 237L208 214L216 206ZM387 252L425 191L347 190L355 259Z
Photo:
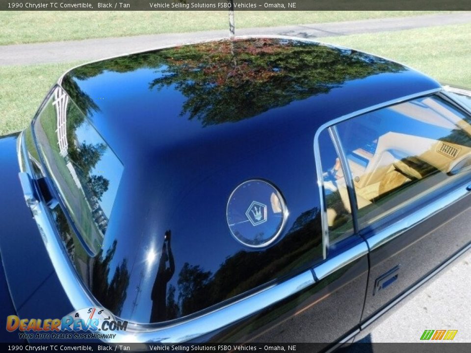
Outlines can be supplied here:
M113 339L114 331L126 331L128 321L116 320L106 309L90 307L73 311L62 319L6 318L6 330L19 331L22 339Z

